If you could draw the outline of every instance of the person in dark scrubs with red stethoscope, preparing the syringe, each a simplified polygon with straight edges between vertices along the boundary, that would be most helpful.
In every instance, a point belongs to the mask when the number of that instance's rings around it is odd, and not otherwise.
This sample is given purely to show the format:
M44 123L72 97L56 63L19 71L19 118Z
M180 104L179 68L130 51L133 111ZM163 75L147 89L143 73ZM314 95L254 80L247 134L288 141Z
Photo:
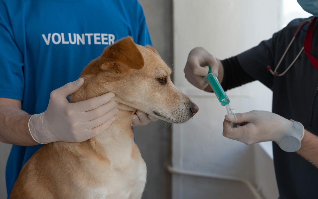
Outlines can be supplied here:
M317 0L298 0L298 3L305 11L318 17ZM311 22L304 23L306 20ZM274 165L280 198L318 198L317 39L315 18L295 19L273 34L271 39L229 59L218 60L204 48L196 47L189 53L184 68L186 79L205 91L212 91L203 80L208 73L207 67L204 67L207 65L212 67L212 72L218 73L218 80L225 90L255 80L272 89L273 113L254 110L236 114L236 119L227 115L223 135L245 144L274 141ZM275 71L277 65L279 67ZM232 128L229 121L247 124ZM301 147L289 153L277 143L292 132L300 138ZM293 148L294 143L287 147Z

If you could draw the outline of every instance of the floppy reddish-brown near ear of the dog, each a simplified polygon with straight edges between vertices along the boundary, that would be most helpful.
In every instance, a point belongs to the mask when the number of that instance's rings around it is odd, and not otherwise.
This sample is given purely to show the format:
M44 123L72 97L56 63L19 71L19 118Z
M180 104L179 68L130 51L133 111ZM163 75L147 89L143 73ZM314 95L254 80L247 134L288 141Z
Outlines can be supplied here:
M133 39L128 36L108 46L100 55L101 69L123 66L131 69L142 69L145 62Z

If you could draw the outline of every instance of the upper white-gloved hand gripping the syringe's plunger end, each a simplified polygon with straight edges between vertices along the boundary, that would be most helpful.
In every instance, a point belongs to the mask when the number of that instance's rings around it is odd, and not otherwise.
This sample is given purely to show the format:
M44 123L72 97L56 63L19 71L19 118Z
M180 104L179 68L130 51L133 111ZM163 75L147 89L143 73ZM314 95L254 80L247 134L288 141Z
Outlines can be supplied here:
M203 47L193 48L183 70L185 78L198 89L205 89L209 85L207 81L203 80L209 72L207 66L210 66L211 72L218 76L219 64L215 57Z

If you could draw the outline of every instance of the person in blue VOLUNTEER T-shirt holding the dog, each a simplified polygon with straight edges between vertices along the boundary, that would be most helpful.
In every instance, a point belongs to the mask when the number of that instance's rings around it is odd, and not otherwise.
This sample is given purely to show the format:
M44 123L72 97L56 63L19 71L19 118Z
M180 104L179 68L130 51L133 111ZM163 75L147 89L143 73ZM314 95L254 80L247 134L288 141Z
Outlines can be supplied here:
M8 195L39 143L85 141L114 121L114 93L78 103L66 97L83 85L78 77L88 62L128 35L151 45L136 0L0 0L0 141L13 144ZM137 111L133 125L152 120Z

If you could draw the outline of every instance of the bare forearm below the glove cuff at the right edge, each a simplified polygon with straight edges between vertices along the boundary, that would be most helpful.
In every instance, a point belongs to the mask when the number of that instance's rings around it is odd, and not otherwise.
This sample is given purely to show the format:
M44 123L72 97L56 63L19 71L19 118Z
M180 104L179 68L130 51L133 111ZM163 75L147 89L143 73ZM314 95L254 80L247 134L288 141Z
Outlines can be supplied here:
M297 151L303 158L318 168L318 137L305 130L301 148Z

